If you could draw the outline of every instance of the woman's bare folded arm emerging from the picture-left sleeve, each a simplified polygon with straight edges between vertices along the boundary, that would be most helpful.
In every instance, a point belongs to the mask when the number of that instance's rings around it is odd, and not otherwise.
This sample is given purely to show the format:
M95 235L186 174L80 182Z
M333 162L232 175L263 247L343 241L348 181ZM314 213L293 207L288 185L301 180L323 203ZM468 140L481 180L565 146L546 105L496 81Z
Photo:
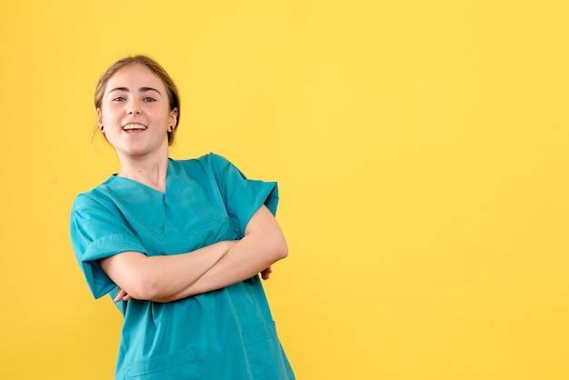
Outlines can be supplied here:
M100 264L105 274L130 297L159 299L192 285L233 245L235 241L223 241L180 255L123 252L102 259Z

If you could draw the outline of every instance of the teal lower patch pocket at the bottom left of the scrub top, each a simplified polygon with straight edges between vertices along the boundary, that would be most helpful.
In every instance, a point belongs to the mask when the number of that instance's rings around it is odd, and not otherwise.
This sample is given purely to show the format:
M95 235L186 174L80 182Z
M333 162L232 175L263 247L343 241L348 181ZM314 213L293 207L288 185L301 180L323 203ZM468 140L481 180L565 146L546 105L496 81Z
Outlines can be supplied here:
M136 380L198 380L203 379L194 347L130 363L126 378Z

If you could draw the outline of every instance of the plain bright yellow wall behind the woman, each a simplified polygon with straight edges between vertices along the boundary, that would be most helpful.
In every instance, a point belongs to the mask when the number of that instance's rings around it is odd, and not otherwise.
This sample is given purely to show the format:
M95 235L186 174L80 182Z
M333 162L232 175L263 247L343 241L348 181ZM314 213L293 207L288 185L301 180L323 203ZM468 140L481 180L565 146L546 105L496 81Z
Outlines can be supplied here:
M565 1L4 0L0 32L0 378L111 378L67 225L118 167L96 80L135 53L180 87L172 156L279 181L299 380L569 378Z

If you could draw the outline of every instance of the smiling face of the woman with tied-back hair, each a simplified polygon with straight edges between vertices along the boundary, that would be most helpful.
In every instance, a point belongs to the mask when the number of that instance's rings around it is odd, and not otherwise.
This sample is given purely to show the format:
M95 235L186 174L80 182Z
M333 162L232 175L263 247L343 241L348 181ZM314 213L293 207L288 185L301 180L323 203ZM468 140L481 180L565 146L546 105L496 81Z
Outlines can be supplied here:
M106 84L100 126L119 157L167 154L167 132L176 124L162 80L145 65L128 65Z

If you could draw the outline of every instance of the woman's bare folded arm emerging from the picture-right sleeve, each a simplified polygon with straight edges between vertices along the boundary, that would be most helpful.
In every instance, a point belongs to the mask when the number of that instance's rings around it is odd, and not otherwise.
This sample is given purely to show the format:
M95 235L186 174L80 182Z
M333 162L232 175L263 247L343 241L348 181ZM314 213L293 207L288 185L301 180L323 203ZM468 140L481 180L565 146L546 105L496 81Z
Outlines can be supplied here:
M181 292L153 301L171 302L236 284L265 271L287 255L288 247L281 227L269 209L262 205L246 225L243 239L204 275ZM266 275L268 277L268 273Z

